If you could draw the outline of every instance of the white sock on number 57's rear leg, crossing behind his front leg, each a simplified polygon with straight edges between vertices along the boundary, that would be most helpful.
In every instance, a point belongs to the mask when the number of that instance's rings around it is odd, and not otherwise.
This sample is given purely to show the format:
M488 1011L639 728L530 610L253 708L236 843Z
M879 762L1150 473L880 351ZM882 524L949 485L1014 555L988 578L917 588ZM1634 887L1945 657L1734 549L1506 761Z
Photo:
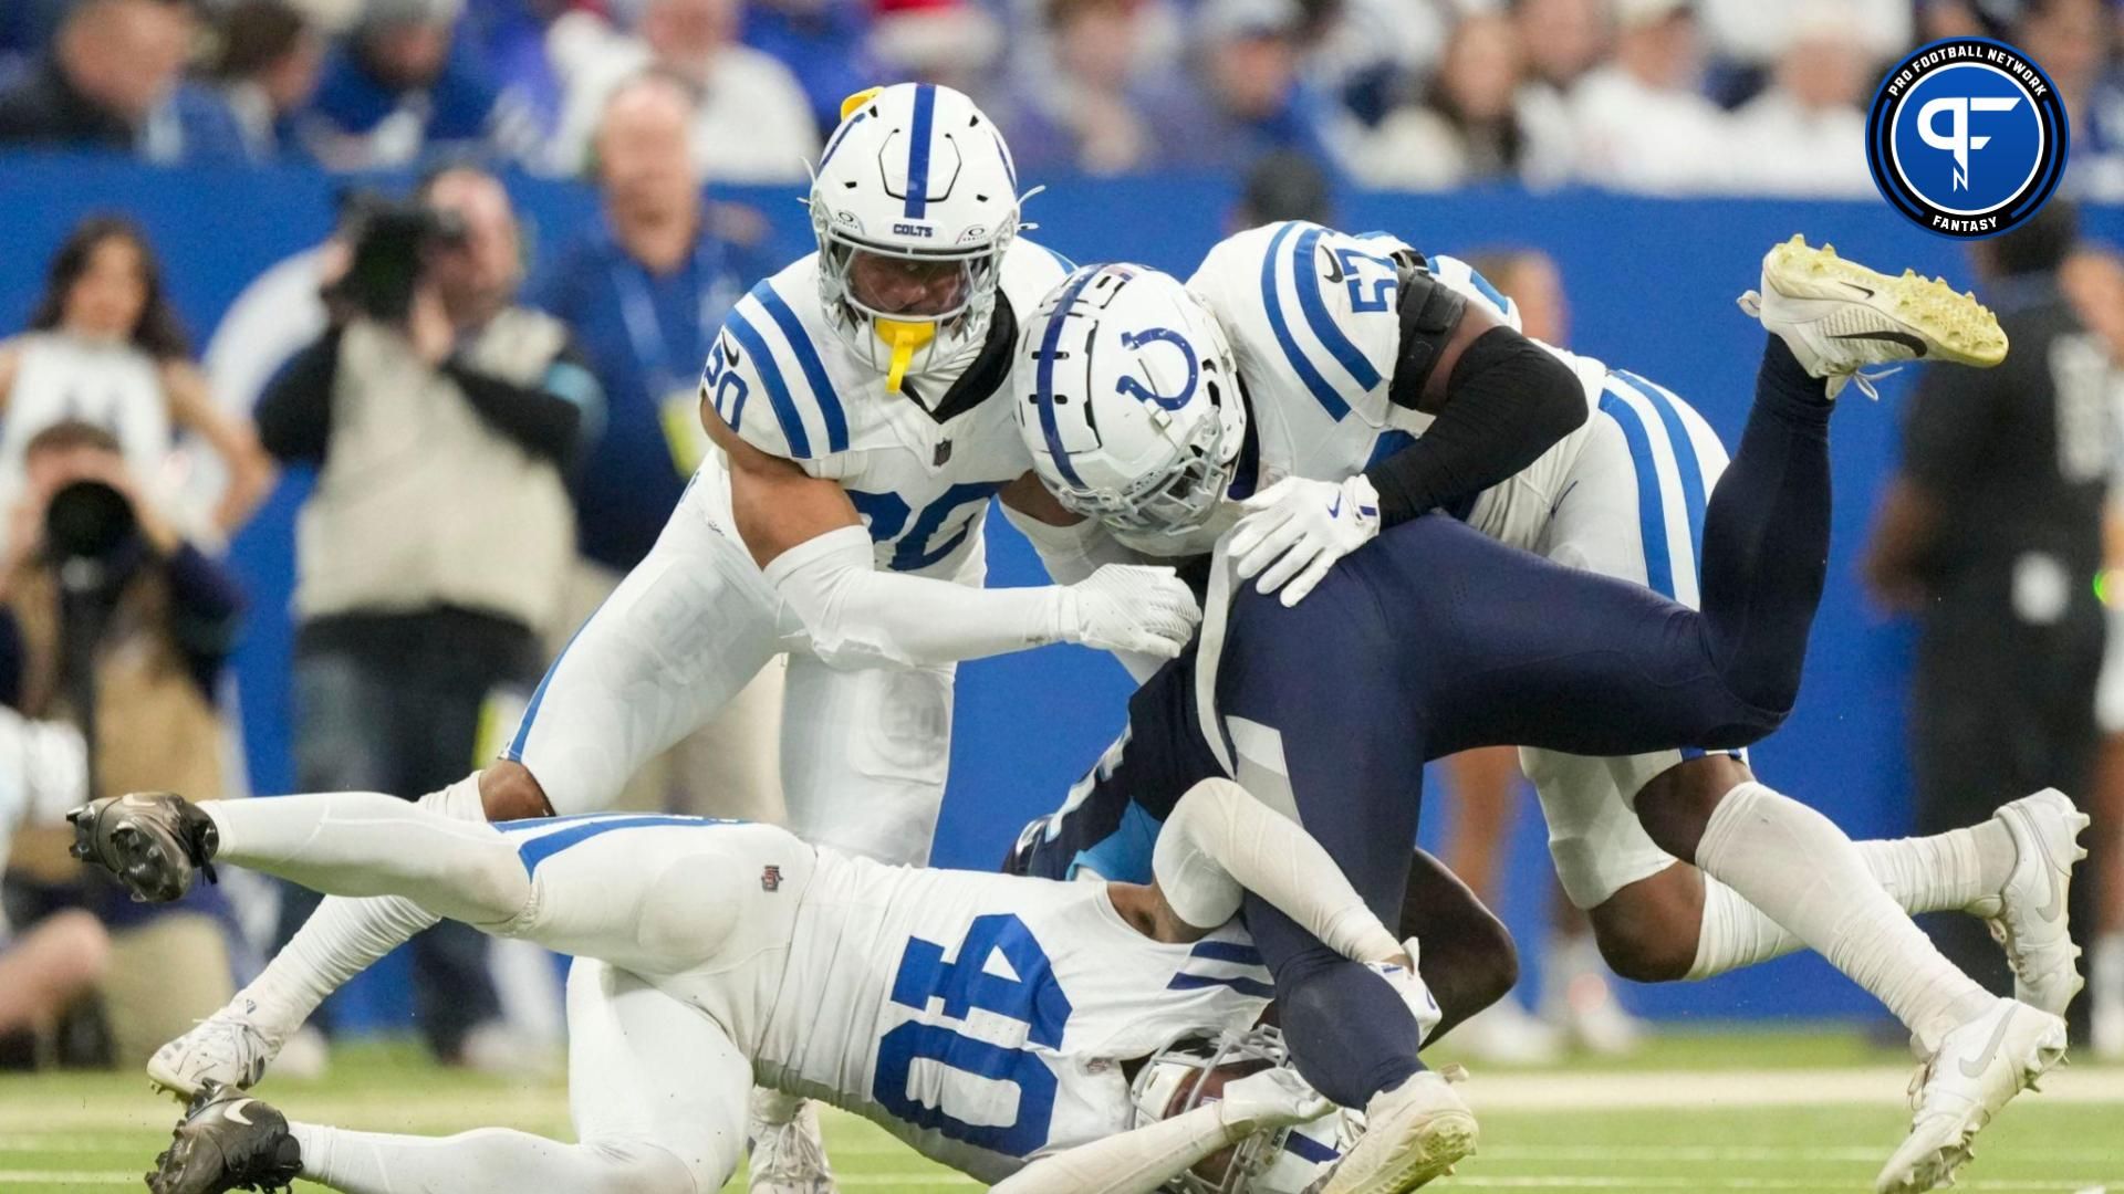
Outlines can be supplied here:
M1867 871L1903 911L1965 911L1999 894L2014 871L2014 835L1997 820L1933 837L1854 841ZM1805 950L1733 888L1703 875L1703 924L1689 979L1708 979Z

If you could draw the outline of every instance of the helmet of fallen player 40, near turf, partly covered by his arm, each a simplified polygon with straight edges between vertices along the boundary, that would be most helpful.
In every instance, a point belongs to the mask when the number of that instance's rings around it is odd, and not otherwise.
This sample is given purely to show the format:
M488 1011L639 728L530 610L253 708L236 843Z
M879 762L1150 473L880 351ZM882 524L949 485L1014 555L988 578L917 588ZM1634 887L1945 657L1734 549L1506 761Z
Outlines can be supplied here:
M1223 1033L1217 1039L1187 1039L1151 1054L1130 1094L1136 1101L1136 1126L1185 1115L1206 1098L1204 1079L1217 1071L1238 1079L1268 1067L1289 1064L1283 1033L1262 1026L1249 1033ZM1342 1154L1364 1135L1364 1113L1336 1107L1319 1120L1289 1128L1260 1130L1230 1154L1211 1156L1166 1183L1175 1194L1304 1194L1323 1183ZM1215 1169L1221 1164L1221 1171ZM1211 1175L1198 1173L1213 1169Z

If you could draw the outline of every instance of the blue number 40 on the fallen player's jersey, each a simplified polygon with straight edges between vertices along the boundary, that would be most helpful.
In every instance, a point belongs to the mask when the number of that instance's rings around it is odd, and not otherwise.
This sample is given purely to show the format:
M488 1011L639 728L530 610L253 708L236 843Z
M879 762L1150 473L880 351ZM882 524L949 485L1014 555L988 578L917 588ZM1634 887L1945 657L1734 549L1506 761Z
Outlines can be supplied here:
M1009 977L988 971L988 958L1000 954ZM943 1001L941 1018L966 1022L973 1009L1015 1020L1026 1026L1026 1041L1062 1047L1062 1026L1068 1024L1068 996L1054 979L1047 952L1032 939L1024 920L1009 914L979 916L958 943L958 960L943 960L943 945L913 937L901 954L901 971L892 979L892 1003L928 1011L930 1001ZM907 1079L918 1060L971 1073L1017 1088L1017 1118L1011 1124L969 1124L930 1107L907 1092ZM935 1128L954 1141L998 1152L1030 1156L1047 1143L1056 1105L1056 1075L1032 1050L1013 1050L956 1026L907 1022L877 1041L877 1077L871 1096L892 1115L922 1128Z

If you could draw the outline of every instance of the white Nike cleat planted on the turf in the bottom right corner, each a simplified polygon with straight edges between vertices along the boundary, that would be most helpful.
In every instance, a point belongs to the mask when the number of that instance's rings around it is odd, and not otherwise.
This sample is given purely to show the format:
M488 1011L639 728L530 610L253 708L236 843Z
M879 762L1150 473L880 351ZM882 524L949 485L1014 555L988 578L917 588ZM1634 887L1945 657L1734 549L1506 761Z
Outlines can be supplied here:
M1920 1194L1954 1181L1984 1124L2065 1056L2065 1020L2001 999L1939 1041L1912 1084L1909 1137L1895 1149L1878 1194Z

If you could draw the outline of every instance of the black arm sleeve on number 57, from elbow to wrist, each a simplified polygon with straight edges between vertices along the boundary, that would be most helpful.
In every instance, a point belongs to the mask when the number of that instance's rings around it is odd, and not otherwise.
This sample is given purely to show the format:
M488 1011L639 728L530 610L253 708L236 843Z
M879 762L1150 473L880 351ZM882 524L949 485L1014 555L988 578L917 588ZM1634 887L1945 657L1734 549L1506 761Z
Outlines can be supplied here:
M1378 518L1393 527L1474 499L1585 421L1578 374L1519 331L1491 327L1455 361L1446 404L1423 438L1366 470Z

